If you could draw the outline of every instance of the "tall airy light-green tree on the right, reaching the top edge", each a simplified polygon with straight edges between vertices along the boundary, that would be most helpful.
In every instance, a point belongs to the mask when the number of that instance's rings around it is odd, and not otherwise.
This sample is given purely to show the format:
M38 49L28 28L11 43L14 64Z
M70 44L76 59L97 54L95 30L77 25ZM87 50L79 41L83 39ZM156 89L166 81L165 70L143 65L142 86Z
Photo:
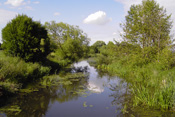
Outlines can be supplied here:
M171 43L171 15L154 0L143 0L140 5L132 5L126 22L121 24L124 39L145 47L156 47L158 53Z

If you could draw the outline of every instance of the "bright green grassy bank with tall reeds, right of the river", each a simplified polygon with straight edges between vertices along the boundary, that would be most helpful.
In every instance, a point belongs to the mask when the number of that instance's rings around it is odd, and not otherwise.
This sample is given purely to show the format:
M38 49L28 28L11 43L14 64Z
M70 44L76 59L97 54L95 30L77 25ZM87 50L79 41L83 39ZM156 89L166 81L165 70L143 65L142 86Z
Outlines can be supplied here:
M138 63L137 59L137 63ZM175 68L164 67L161 61L144 65L134 65L129 57L116 59L106 65L98 65L99 69L111 72L127 80L131 84L134 96L133 106L144 105L164 110L175 108Z

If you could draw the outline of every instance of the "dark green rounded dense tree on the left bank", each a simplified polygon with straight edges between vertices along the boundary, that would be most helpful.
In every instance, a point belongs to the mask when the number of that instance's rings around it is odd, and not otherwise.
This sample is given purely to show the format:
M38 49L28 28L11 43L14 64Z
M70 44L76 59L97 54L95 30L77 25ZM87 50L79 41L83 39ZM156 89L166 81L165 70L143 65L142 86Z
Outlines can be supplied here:
M26 61L39 61L50 52L46 29L26 15L18 15L2 29L3 49Z

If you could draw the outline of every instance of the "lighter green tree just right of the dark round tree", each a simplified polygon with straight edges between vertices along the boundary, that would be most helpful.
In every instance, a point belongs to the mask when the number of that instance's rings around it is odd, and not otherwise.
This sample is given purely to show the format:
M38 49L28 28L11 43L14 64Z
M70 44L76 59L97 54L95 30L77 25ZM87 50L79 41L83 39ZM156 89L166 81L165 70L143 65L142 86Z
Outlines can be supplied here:
M46 22L45 26L50 39L58 45L57 51L63 59L76 61L86 55L90 40L78 26L55 21Z

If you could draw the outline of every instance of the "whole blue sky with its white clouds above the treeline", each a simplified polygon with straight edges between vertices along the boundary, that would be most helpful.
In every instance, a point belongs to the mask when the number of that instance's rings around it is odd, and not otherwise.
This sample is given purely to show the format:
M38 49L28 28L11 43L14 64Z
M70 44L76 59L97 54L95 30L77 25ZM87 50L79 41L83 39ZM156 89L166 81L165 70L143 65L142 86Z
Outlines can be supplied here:
M17 14L26 14L44 24L46 21L78 25L91 44L97 40L121 41L119 24L132 4L142 0L0 0L0 31ZM157 0L168 13L175 14L174 0ZM172 19L175 19L174 15ZM1 35L0 35L1 40Z

